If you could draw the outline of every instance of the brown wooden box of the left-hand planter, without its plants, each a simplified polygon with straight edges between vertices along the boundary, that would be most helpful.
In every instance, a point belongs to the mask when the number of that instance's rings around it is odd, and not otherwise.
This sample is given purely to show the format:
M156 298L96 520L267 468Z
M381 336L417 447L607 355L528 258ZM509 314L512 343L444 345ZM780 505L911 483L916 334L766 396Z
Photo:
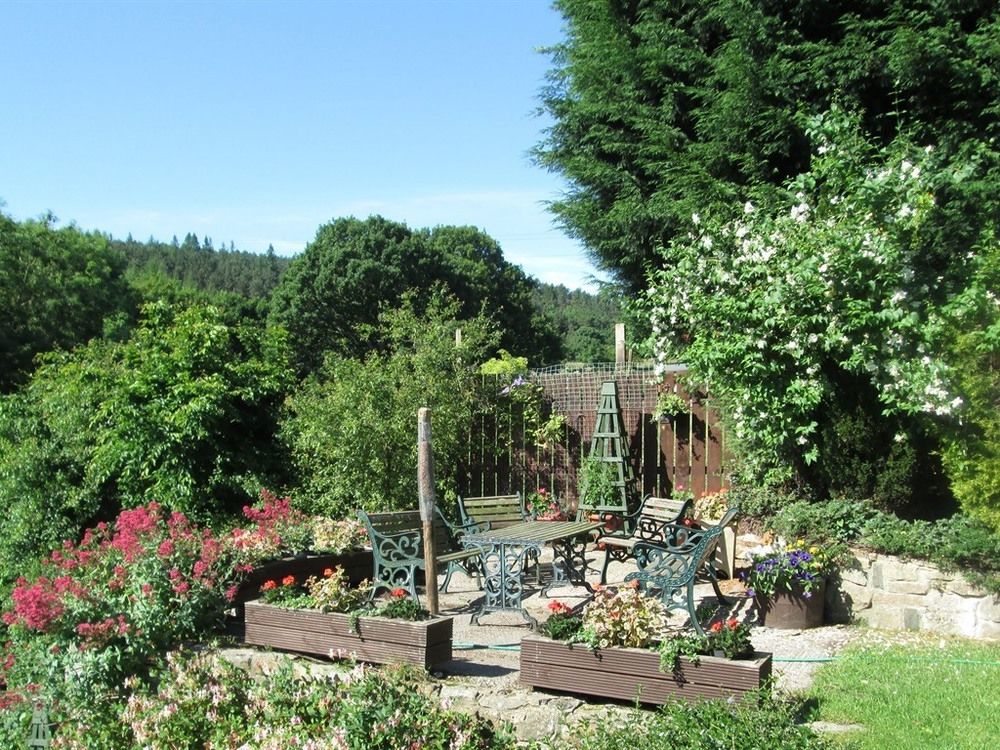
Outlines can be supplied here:
M362 617L350 631L350 615L246 603L244 641L332 659L373 664L403 662L430 669L451 660L452 620L390 620Z

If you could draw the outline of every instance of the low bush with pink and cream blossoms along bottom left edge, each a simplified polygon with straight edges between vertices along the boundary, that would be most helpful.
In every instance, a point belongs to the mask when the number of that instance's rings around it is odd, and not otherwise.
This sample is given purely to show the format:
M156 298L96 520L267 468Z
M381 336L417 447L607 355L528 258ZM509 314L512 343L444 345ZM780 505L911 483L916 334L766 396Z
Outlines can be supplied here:
M513 747L487 720L442 708L405 670L305 678L285 665L251 679L211 654L174 653L156 687L128 687L124 703L64 705L53 750Z

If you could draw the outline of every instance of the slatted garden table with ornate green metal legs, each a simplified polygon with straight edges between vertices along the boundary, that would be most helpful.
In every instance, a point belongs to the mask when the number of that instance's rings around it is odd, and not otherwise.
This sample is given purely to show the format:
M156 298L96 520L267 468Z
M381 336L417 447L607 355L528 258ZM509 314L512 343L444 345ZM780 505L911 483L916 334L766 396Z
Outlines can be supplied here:
M543 594L557 586L583 586L587 583L587 560L584 552L591 531L604 524L600 521L525 521L503 529L466 534L462 544L482 549L483 606L472 616L479 618L488 612L520 612L532 628L538 621L521 605L524 594L524 568L529 558L538 559L543 544L553 550L553 576L542 589Z

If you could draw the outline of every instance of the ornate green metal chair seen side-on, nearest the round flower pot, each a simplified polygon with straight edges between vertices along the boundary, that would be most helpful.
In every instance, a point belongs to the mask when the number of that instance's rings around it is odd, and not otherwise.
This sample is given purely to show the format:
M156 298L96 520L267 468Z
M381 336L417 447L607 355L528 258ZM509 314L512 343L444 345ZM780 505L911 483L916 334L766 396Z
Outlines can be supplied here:
M666 542L637 541L632 552L639 570L625 576L625 582L637 581L644 593L658 593L667 609L684 607L692 627L704 635L694 606L694 586L704 569L716 598L720 603L729 603L710 563L723 530L738 513L735 506L731 507L718 524L705 528L672 525L665 529Z

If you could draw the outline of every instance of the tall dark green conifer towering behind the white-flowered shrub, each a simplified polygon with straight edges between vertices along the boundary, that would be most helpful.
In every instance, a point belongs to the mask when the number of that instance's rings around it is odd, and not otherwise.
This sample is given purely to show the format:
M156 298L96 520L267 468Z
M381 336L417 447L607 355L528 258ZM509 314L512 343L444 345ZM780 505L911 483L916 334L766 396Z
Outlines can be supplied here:
M559 221L633 291L692 213L809 164L800 114L858 111L948 154L998 134L1000 11L975 2L558 0L565 41L535 152L569 182ZM995 191L994 191L995 193Z

